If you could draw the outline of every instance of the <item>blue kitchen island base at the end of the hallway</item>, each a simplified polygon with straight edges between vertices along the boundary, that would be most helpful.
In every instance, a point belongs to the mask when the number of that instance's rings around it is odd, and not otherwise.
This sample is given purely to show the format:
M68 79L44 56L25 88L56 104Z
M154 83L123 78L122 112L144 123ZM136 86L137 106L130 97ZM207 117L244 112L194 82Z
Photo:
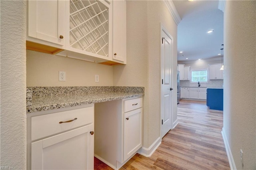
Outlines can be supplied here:
M209 109L223 111L223 89L207 88L206 105Z

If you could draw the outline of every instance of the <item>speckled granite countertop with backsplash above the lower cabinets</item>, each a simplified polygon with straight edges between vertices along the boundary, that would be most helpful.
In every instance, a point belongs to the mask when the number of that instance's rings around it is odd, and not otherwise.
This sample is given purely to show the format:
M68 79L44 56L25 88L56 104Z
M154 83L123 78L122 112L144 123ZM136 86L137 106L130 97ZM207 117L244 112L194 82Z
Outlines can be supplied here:
M27 113L144 96L144 87L27 87Z

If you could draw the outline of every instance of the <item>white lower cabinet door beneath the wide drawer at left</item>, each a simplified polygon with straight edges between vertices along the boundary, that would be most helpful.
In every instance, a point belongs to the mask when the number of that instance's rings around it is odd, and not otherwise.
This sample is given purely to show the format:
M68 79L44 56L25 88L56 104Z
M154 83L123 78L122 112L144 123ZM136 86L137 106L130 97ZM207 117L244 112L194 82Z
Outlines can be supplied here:
M31 144L31 169L92 170L93 125L76 128Z

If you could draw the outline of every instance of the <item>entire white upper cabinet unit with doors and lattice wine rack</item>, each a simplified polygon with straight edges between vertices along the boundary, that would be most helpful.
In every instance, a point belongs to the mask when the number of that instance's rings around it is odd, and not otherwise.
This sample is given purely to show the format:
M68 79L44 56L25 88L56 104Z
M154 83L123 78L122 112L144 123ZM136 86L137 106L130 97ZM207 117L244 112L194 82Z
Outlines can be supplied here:
M26 47L106 65L126 64L126 1L28 1Z

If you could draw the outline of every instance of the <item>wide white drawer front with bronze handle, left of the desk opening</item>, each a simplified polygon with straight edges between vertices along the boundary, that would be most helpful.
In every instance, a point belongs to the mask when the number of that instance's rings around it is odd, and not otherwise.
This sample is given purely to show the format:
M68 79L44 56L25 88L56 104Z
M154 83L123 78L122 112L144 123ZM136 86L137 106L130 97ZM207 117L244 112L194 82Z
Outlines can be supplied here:
M70 122L60 123L61 121ZM93 122L94 106L31 117L31 140L36 140L72 128L88 125Z

